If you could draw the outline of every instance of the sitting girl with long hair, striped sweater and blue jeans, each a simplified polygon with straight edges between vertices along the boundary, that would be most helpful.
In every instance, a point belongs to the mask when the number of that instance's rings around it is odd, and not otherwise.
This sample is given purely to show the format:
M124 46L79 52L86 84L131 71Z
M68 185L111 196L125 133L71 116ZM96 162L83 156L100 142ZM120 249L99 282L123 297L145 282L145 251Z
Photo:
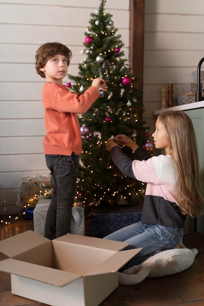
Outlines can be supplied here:
M183 240L186 215L197 216L204 203L196 138L191 119L183 111L158 116L152 134L163 155L150 157L131 138L121 134L108 139L106 149L123 174L146 182L141 222L126 226L104 239L128 242L127 248L143 248L122 270L150 256L172 249ZM134 151L134 160L119 145Z

